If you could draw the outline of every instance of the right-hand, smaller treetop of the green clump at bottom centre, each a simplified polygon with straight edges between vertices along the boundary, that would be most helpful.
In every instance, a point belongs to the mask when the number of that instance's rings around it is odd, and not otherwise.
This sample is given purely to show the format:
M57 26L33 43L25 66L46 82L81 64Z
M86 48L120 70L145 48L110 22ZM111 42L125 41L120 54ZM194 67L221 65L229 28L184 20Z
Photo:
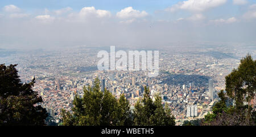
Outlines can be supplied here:
M145 86L143 98L135 104L134 124L138 126L175 125L175 118L170 109L162 105L162 98L157 95L155 101L150 98L150 90Z

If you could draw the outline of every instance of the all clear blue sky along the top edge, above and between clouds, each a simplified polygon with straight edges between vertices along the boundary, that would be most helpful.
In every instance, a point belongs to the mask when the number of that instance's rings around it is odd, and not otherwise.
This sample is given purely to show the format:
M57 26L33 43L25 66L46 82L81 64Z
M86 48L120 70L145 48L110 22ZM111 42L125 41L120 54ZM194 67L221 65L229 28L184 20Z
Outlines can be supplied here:
M79 12L83 7L95 7L95 9L107 10L112 14L118 13L118 11L125 9L125 7L133 7L135 10L146 11L146 13L152 15L155 19L177 19L184 18L193 14L193 12L188 12L188 10L179 10L175 13L164 13L163 11L168 9L168 7L173 7L179 2L186 1L202 1L202 0L1 0L0 9L7 5L15 5L22 9L23 13L26 14L41 14L43 11L47 10L59 10L66 7L70 7L72 11ZM208 0L203 0L208 1ZM210 0L219 1L219 0ZM205 10L205 14L208 14L209 18L228 18L228 16L242 15L246 12L250 5L256 3L255 0L220 0L225 1L224 3L215 6L214 8L209 8ZM245 2L242 4L234 4L234 1ZM0 14L1 14L0 10ZM161 13L161 14L159 14ZM221 15L221 16L220 16Z

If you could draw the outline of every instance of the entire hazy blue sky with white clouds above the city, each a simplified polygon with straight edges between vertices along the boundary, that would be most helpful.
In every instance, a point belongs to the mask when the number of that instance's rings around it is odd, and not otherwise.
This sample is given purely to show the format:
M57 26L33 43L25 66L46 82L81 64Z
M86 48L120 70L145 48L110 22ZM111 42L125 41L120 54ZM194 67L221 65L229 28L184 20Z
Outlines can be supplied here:
M255 0L1 0L0 48L255 42Z

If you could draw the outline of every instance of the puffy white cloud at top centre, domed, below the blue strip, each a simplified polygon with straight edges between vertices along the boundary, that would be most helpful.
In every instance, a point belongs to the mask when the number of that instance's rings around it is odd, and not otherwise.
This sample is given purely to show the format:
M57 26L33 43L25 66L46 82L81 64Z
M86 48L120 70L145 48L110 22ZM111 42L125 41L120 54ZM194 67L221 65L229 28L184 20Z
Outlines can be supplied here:
M142 18L147 16L146 11L134 10L133 7L126 7L117 13L118 18Z

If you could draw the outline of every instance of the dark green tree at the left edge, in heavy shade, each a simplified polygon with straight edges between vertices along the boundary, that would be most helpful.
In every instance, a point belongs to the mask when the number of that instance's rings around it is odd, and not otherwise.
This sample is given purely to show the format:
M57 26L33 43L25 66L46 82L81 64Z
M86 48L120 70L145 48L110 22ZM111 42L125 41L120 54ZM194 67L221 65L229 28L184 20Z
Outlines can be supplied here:
M46 109L32 90L35 78L22 84L15 65L0 65L0 125L45 125Z

